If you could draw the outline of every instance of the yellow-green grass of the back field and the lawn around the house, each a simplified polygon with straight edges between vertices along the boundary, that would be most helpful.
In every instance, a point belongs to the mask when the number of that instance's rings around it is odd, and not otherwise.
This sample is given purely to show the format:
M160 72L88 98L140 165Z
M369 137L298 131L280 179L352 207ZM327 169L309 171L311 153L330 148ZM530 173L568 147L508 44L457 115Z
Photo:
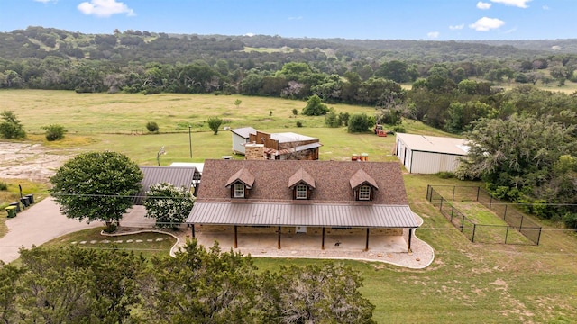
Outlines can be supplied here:
M240 108L234 100L243 101ZM369 153L371 161L395 161L394 137L352 135L323 127L322 118L298 115L306 103L243 96L184 94L74 94L49 91L3 91L0 103L23 121L32 141L54 154L59 150L111 149L141 165L156 164L161 146L168 152L162 165L173 161L202 161L229 155L230 133L213 135L204 121L212 115L225 126L294 131L321 139L321 159L350 158ZM371 108L331 105L337 112L372 113ZM270 115L272 112L272 115ZM305 127L297 128L297 120ZM143 134L146 121L156 121L160 134ZM70 132L63 141L48 143L40 127L59 123ZM192 128L193 158L188 151L188 123ZM421 123L404 124L410 133L443 135ZM240 157L239 157L240 158ZM423 270L407 270L380 263L343 261L364 278L362 293L376 305L379 323L572 323L577 321L577 236L552 226L544 228L539 246L471 243L439 211L426 202L426 185L460 184L435 175L404 175L411 209L425 220L416 235L435 248L434 263ZM478 185L474 183L473 185ZM490 218L484 211L483 220ZM75 234L77 235L77 234ZM89 239L91 233L78 233ZM137 247L134 247L137 248ZM164 247L162 247L164 248ZM168 247L166 247L168 252ZM318 260L255 258L261 270L281 265L318 263Z

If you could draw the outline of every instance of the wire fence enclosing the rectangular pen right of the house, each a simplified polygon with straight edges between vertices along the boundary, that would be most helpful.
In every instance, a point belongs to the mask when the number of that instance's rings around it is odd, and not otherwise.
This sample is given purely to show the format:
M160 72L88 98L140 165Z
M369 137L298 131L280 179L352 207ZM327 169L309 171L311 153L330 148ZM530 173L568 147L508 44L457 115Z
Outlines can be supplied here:
M444 197L448 197L445 199ZM539 245L542 227L510 204L493 198L479 186L427 185L426 200L431 202L466 238L477 243ZM507 225L480 224L458 211L454 202L479 202ZM520 235L519 235L520 234Z

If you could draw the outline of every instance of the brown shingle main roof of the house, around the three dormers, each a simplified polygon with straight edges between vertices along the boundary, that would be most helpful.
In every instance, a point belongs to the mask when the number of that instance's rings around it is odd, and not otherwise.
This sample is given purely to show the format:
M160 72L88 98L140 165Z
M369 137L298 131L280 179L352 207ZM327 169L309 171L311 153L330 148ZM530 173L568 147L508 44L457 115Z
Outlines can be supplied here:
M405 184L398 162L304 161L304 160L206 160L197 201L234 201L226 185L252 176L251 198L247 202L294 202L289 179L303 169L314 175L315 190L307 203L343 202L408 205ZM243 171L245 169L245 171ZM355 202L350 180L359 170L372 178L380 190L373 200ZM366 177L364 178L366 180ZM300 201L303 203L303 201Z

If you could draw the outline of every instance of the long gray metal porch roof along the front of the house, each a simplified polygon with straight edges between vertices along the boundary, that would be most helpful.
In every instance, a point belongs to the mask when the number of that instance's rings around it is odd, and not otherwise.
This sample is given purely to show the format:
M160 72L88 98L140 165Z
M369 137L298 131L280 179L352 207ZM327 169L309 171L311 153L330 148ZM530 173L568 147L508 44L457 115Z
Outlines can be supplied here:
M417 228L408 205L195 202L189 224Z

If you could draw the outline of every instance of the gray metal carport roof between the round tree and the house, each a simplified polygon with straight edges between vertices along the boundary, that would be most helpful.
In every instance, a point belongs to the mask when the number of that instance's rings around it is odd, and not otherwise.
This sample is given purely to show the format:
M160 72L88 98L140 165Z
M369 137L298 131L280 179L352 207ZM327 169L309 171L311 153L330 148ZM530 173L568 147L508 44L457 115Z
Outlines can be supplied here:
M177 187L185 187L190 190L194 179L195 167L186 166L140 166L144 178L142 179L142 189L138 196L134 198L134 204L142 205L144 196L151 185L168 183Z

